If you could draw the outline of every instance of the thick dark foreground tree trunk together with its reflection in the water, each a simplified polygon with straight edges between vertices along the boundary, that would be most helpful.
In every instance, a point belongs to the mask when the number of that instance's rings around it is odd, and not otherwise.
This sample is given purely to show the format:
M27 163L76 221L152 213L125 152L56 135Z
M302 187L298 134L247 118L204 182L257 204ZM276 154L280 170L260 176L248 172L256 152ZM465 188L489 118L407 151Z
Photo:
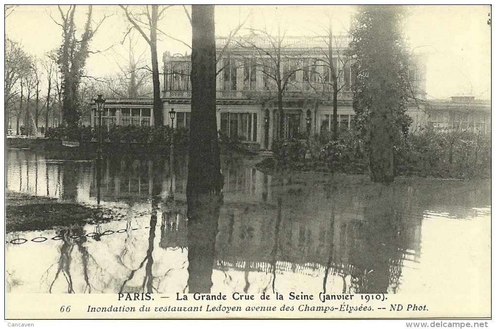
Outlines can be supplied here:
M186 186L189 293L209 293L223 185L215 111L214 6L192 5L191 127Z

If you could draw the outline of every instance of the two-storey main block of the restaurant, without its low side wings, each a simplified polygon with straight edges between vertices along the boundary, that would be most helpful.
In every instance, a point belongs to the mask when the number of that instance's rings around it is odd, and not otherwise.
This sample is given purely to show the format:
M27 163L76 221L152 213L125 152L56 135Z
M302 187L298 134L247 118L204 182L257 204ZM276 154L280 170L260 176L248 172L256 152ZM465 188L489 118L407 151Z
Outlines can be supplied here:
M338 76L338 125L353 125L353 59L346 57L347 36L337 36L332 63ZM279 74L286 83L283 93L285 138L302 133L329 131L332 124L332 87L328 46L316 39L286 37L281 46L270 40L236 40L217 48L217 126L223 136L244 144L270 149L278 135L277 86ZM164 54L164 112L177 112L176 127L189 127L191 85L190 56ZM425 57L412 60L413 92L425 97ZM412 109L413 109L412 105ZM412 110L413 112L419 109ZM418 115L416 115L418 116ZM166 116L167 119L168 116Z

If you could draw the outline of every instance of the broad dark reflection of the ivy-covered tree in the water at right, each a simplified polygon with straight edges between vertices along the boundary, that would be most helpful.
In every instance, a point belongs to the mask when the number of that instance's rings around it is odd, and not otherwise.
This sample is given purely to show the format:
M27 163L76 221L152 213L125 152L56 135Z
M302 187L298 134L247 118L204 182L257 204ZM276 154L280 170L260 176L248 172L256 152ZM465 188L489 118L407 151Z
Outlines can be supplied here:
M407 194L405 186L372 184L362 196L363 220L351 227L354 239L344 273L351 275L350 291L396 293L407 250L420 251L412 232L420 227L422 212L411 207L413 196Z

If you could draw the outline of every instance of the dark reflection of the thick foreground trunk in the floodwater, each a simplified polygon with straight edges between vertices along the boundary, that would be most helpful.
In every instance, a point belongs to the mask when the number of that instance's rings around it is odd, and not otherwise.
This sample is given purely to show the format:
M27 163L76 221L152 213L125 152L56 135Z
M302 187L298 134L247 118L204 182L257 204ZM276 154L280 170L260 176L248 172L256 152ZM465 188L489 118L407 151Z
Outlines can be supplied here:
M188 196L188 291L210 293L222 194Z

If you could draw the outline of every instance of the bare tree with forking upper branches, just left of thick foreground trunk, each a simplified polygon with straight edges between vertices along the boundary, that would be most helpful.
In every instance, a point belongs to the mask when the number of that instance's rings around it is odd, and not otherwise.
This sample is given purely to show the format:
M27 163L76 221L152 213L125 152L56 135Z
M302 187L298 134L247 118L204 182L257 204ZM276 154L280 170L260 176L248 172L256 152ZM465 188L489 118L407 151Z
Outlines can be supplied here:
M163 125L162 100L160 99L160 79L157 56L157 24L164 17L164 11L170 6L160 7L158 4L146 5L140 13L133 13L128 6L120 5L127 20L132 24L150 46L153 81L153 124Z

